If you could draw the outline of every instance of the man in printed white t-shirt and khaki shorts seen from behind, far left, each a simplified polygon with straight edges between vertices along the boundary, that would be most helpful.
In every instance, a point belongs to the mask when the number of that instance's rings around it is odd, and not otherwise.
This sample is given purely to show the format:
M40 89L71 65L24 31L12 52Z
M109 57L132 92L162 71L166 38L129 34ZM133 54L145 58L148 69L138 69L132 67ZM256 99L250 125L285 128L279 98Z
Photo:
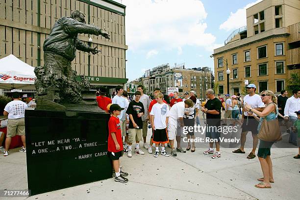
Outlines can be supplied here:
M25 109L27 108L27 104L19 100L20 98L19 92L15 92L13 90L12 97L14 100L6 104L3 112L4 116L8 116L5 151L3 153L4 156L8 155L8 149L11 143L11 138L16 135L20 135L23 142L23 148L21 148L20 151L26 152L24 119L25 119Z

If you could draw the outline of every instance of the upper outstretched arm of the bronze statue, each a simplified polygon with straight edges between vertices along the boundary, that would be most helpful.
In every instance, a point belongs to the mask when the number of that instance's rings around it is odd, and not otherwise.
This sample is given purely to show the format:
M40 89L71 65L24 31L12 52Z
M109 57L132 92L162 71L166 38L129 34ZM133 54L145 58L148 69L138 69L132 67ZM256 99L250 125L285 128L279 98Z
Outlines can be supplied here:
M68 18L62 22L62 28L65 33L69 35L75 35L78 33L86 33L92 35L102 35L103 37L109 39L109 34L105 31L102 31L100 28L94 25L86 25L72 18Z

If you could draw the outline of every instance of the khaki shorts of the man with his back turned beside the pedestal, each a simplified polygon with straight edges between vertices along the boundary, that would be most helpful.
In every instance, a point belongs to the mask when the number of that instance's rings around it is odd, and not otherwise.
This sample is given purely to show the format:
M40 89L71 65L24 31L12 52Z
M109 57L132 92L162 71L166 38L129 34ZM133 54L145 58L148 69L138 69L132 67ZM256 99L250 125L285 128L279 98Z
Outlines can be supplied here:
M24 118L8 119L6 137L14 137L16 135L25 135Z

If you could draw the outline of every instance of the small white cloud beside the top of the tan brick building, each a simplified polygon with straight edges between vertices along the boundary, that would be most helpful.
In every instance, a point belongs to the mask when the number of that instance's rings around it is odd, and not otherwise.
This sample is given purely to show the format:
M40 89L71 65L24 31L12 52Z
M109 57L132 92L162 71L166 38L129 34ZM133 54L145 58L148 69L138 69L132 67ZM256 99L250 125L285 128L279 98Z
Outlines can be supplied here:
M222 25L220 25L219 29L229 31L247 25L246 9L260 1L262 0L256 0L255 2L249 3L245 7L238 9L235 13L230 12L230 16Z

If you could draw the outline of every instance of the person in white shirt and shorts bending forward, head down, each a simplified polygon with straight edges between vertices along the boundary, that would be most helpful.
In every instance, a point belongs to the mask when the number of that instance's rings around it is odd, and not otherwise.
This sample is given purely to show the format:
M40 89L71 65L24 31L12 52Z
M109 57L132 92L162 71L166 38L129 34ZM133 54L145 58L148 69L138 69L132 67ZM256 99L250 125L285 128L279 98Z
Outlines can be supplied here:
M168 123L168 136L171 145L171 155L176 156L176 151L174 149L174 140L176 139L177 148L180 150L180 141L181 141L181 130L184 126L183 124L183 115L185 108L193 107L194 102L190 99L185 101L180 101L175 103L171 109L169 114L169 123ZM182 149L182 148L181 148ZM181 151L180 151L181 152Z

